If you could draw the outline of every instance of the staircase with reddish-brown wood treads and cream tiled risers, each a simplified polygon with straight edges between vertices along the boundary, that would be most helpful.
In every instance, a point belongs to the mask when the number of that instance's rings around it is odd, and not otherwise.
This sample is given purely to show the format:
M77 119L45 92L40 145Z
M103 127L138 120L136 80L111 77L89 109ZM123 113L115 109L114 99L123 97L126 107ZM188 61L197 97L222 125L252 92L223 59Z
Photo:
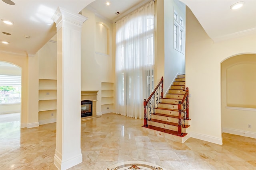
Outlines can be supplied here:
M162 87L161 87L162 88ZM188 89L187 89L188 90ZM173 82L171 88L166 94L166 98L159 99L156 106L152 107L152 113L147 116L147 125L143 127L147 133L171 139L180 143L184 143L188 138L189 120L186 117L186 100L182 105L180 103L180 132L179 126L179 102L182 102L185 90L185 75L178 75ZM186 93L188 96L188 93ZM154 96L154 95L153 95ZM186 96L185 96L186 98ZM156 99L153 99L156 100ZM188 100L188 98L187 98ZM154 101L152 101L154 102ZM151 103L152 103L151 102ZM147 106L150 108L150 106ZM147 108L147 109L148 109ZM188 111L188 110L187 110ZM184 114L182 114L184 113Z

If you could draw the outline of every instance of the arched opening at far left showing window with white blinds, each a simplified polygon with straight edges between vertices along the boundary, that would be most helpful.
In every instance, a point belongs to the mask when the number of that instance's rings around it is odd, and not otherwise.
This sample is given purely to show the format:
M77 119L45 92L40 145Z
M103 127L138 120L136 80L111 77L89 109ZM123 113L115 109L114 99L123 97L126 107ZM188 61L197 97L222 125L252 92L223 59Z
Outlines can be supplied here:
M20 131L22 69L0 61L0 126L4 131Z

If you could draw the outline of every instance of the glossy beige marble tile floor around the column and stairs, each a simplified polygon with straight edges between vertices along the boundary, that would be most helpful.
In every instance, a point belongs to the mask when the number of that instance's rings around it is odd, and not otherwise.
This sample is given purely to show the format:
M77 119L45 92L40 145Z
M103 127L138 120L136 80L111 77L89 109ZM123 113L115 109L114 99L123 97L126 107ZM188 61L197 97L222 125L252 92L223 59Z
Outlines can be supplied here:
M0 115L0 170L57 170L56 123L20 129L19 113ZM83 162L70 170L104 170L144 161L166 170L256 170L256 139L223 133L223 145L184 144L142 131L143 120L107 113L81 122Z

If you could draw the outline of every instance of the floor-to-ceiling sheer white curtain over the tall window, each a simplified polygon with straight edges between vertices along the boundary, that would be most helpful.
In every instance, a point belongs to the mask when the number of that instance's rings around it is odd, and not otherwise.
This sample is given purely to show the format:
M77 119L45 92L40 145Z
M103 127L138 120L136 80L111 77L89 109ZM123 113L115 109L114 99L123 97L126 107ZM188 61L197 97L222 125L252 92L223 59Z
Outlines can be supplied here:
M154 2L152 1L116 22L117 114L136 119L144 118L143 100L148 97L148 92L152 89L153 70Z

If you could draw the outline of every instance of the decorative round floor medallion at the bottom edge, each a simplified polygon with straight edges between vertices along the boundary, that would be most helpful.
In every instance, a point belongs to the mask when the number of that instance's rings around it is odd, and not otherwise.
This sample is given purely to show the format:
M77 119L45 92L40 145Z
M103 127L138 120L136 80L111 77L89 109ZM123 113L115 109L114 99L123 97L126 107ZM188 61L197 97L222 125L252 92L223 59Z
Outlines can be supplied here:
M166 169L149 162L128 161L128 162L120 162L120 163L114 164L105 170L166 170Z

